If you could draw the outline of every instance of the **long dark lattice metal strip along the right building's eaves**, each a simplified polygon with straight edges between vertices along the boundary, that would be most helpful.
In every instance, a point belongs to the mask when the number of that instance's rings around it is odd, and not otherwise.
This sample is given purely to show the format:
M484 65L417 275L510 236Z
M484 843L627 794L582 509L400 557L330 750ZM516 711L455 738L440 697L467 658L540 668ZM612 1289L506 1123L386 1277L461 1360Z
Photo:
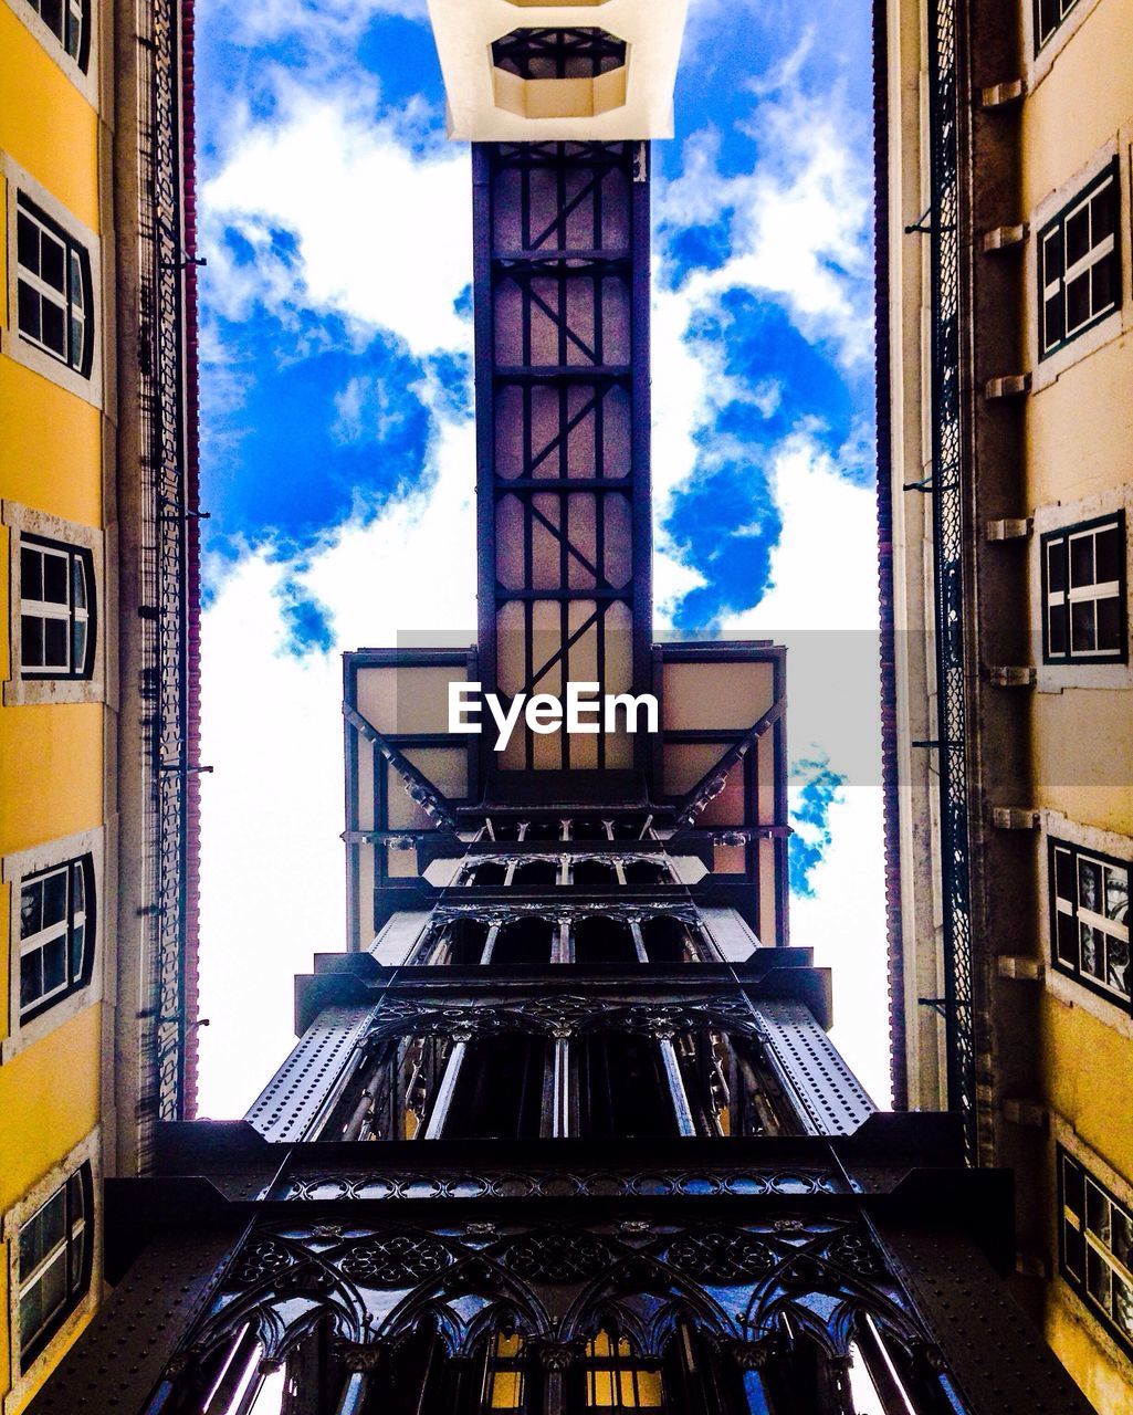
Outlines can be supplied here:
M972 908L963 647L963 424L960 412L959 33L956 0L929 4L929 221L932 299L932 552L941 775L945 1019L949 1108L963 1115L975 1156Z

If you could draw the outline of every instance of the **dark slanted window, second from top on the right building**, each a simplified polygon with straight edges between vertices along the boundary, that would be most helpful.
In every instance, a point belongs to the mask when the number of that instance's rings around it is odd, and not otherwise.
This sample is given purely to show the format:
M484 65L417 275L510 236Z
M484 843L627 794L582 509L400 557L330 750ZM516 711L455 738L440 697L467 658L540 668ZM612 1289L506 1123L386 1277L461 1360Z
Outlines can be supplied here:
M1069 344L1122 303L1117 163L1038 233L1038 357Z

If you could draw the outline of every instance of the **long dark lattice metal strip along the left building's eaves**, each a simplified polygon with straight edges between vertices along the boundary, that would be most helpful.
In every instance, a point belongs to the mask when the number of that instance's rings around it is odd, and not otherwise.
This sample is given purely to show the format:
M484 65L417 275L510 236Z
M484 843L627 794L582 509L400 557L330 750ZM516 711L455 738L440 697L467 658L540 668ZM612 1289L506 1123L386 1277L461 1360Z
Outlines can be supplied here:
M187 457L185 266L181 149L181 7L139 6L140 432L143 485L143 695L150 780L150 1109L185 1114L188 900L188 638L195 558Z

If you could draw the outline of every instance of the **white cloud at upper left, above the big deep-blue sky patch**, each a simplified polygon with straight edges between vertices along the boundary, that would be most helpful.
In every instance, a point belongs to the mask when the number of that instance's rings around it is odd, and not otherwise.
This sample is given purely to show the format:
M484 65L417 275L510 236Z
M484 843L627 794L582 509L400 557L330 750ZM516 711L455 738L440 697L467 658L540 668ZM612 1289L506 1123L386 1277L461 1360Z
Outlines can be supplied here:
M270 120L243 119L205 184L214 304L242 318L253 300L287 314L334 311L390 330L427 354L468 344L454 301L471 277L471 177L461 147L414 151L412 133L375 120L358 93L280 85ZM253 259L223 243L235 229ZM296 258L273 232L287 232Z

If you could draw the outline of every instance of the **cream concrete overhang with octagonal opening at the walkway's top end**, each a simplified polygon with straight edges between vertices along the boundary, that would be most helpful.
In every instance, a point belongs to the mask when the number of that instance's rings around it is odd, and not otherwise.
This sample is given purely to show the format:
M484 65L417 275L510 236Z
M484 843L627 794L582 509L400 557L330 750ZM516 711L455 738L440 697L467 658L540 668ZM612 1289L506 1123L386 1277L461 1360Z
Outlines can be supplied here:
M687 0L429 0L447 95L448 136L474 143L672 137L673 85ZM515 30L600 27L625 64L595 78L523 79L492 62Z

